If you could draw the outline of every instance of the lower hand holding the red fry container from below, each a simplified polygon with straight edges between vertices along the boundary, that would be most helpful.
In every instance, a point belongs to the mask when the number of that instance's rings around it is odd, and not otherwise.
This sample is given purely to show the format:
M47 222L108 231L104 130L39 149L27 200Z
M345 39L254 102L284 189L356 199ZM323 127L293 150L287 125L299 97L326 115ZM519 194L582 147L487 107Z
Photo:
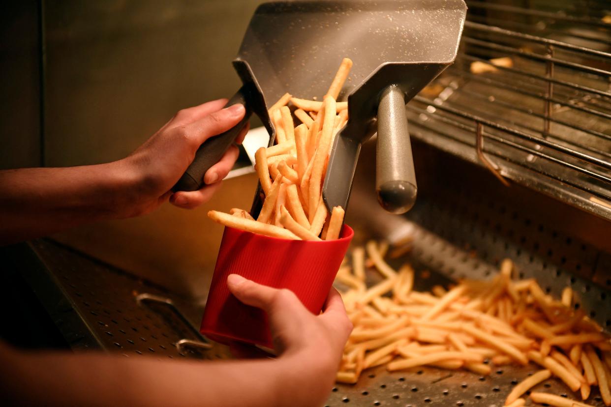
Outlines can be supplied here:
M262 286L242 276L227 278L229 290L244 304L268 314L274 348L280 358L291 359L313 391L327 394L335 379L352 323L342 297L331 288L320 315L313 315L287 289Z

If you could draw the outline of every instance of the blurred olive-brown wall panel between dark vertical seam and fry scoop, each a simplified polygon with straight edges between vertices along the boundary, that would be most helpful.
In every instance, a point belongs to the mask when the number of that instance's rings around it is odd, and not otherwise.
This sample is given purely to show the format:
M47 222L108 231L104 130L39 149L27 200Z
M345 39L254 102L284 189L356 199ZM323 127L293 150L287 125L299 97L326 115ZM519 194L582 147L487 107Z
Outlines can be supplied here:
M229 97L258 1L45 1L45 164L126 156L182 107Z

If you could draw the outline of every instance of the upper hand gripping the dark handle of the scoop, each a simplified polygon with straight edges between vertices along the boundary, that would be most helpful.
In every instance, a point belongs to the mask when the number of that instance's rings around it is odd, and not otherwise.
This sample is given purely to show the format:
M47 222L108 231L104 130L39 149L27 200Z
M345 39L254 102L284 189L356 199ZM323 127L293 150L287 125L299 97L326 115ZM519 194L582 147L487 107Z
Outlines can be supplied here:
M135 187L131 187L132 205L126 209L125 217L151 212L168 198L170 203L185 209L210 200L238 158L236 146L231 146L206 172L202 189L175 193L170 189L185 173L205 140L229 130L244 117L243 105L223 109L226 103L227 99L218 99L180 110L134 153L120 160L119 165L135 179ZM246 124L236 144L244 140L248 129Z

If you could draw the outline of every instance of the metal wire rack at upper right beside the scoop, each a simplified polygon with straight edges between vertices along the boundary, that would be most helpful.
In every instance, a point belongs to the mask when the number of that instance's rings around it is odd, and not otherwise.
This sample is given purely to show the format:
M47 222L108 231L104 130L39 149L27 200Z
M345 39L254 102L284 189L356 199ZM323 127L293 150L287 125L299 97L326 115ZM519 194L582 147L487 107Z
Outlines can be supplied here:
M467 2L456 63L408 104L411 133L611 219L611 11L505 3ZM499 57L513 66L470 70Z

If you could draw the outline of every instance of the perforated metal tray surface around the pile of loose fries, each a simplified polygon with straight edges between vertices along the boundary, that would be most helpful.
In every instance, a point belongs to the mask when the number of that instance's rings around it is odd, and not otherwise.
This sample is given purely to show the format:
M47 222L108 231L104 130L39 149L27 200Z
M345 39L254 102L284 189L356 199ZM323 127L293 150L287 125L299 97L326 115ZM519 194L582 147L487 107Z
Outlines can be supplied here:
M496 273L502 259L511 258L519 278L535 277L552 295L559 296L564 287L571 286L576 293L576 308L585 309L607 331L611 330L611 281L603 287L588 279L601 253L536 222L526 212L499 203L489 191L478 192L473 185L446 178L430 195L419 196L404 218L384 214L375 200L358 191L356 199L348 222L360 223L361 230L370 231L357 234L356 243L372 234L391 241L406 235L414 238L412 253L390 264L396 267L411 262L417 270L415 289L429 290L435 284L459 278L486 279ZM337 384L326 405L500 407L516 383L539 369L532 365L503 366L493 369L489 376L480 376L433 368L389 373L381 366L366 370L357 384ZM580 399L556 379L541 383L533 391ZM598 391L593 391L588 403L604 405Z

